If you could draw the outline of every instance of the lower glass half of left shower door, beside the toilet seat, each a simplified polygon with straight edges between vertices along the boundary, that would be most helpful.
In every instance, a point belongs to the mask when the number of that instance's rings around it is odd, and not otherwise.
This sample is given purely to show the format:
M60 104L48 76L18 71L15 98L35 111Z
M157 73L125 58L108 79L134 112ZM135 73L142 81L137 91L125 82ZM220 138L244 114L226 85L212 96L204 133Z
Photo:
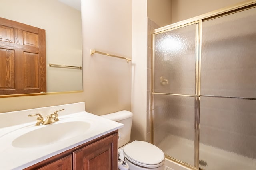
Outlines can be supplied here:
M154 144L163 152L194 165L193 97L154 95Z

